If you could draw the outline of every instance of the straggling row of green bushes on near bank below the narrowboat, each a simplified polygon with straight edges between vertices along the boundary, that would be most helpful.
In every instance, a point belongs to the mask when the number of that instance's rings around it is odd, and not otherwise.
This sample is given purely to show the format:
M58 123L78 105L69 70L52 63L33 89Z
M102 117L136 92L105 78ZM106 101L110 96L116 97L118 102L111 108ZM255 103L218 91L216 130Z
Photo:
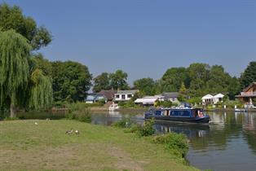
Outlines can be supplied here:
M141 138L151 138L152 143L161 144L166 151L183 160L188 153L187 136L185 134L177 134L174 132L160 135L155 134L153 125L154 120L148 120L145 121L143 125L138 125L135 122L130 121L130 118L124 118L113 124L115 127L125 129L125 133L135 133Z

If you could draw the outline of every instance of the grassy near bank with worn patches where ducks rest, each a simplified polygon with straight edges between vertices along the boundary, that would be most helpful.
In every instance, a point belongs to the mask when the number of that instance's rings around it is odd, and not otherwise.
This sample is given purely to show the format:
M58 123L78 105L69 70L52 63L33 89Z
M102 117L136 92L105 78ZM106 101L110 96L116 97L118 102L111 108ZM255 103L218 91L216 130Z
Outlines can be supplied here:
M149 138L78 121L0 121L0 170L196 170ZM65 134L68 129L79 135Z

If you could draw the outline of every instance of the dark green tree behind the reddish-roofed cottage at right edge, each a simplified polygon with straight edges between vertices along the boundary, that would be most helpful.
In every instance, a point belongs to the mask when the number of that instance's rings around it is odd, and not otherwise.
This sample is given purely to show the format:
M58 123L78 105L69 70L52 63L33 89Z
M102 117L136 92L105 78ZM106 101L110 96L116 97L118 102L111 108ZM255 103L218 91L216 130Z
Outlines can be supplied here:
M244 89L250 83L256 81L256 61L249 63L245 71L241 74L241 87Z

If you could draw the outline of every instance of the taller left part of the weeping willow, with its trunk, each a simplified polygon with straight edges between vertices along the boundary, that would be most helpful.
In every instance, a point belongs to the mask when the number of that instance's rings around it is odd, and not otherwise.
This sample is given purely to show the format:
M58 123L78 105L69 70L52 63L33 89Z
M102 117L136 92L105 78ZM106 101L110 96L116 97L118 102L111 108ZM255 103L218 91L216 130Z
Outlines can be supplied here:
M15 31L0 33L0 105L10 107L11 117L22 103L20 91L28 85L31 49L28 40Z

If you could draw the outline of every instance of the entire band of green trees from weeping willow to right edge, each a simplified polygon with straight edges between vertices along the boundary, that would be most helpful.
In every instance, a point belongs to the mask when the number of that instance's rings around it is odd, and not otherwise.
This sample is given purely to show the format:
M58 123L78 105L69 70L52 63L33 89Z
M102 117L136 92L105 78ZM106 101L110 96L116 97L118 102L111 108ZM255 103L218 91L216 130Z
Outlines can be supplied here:
M231 77L223 66L191 64L169 68L159 80L150 77L127 83L120 69L93 77L86 65L74 61L49 61L37 50L51 43L51 33L38 26L20 7L0 4L0 111L43 110L57 102L83 101L90 87L100 90L138 89L138 96L177 91L181 98L224 93L234 99L256 81L256 62L250 62L241 77ZM1 113L0 113L1 116Z

